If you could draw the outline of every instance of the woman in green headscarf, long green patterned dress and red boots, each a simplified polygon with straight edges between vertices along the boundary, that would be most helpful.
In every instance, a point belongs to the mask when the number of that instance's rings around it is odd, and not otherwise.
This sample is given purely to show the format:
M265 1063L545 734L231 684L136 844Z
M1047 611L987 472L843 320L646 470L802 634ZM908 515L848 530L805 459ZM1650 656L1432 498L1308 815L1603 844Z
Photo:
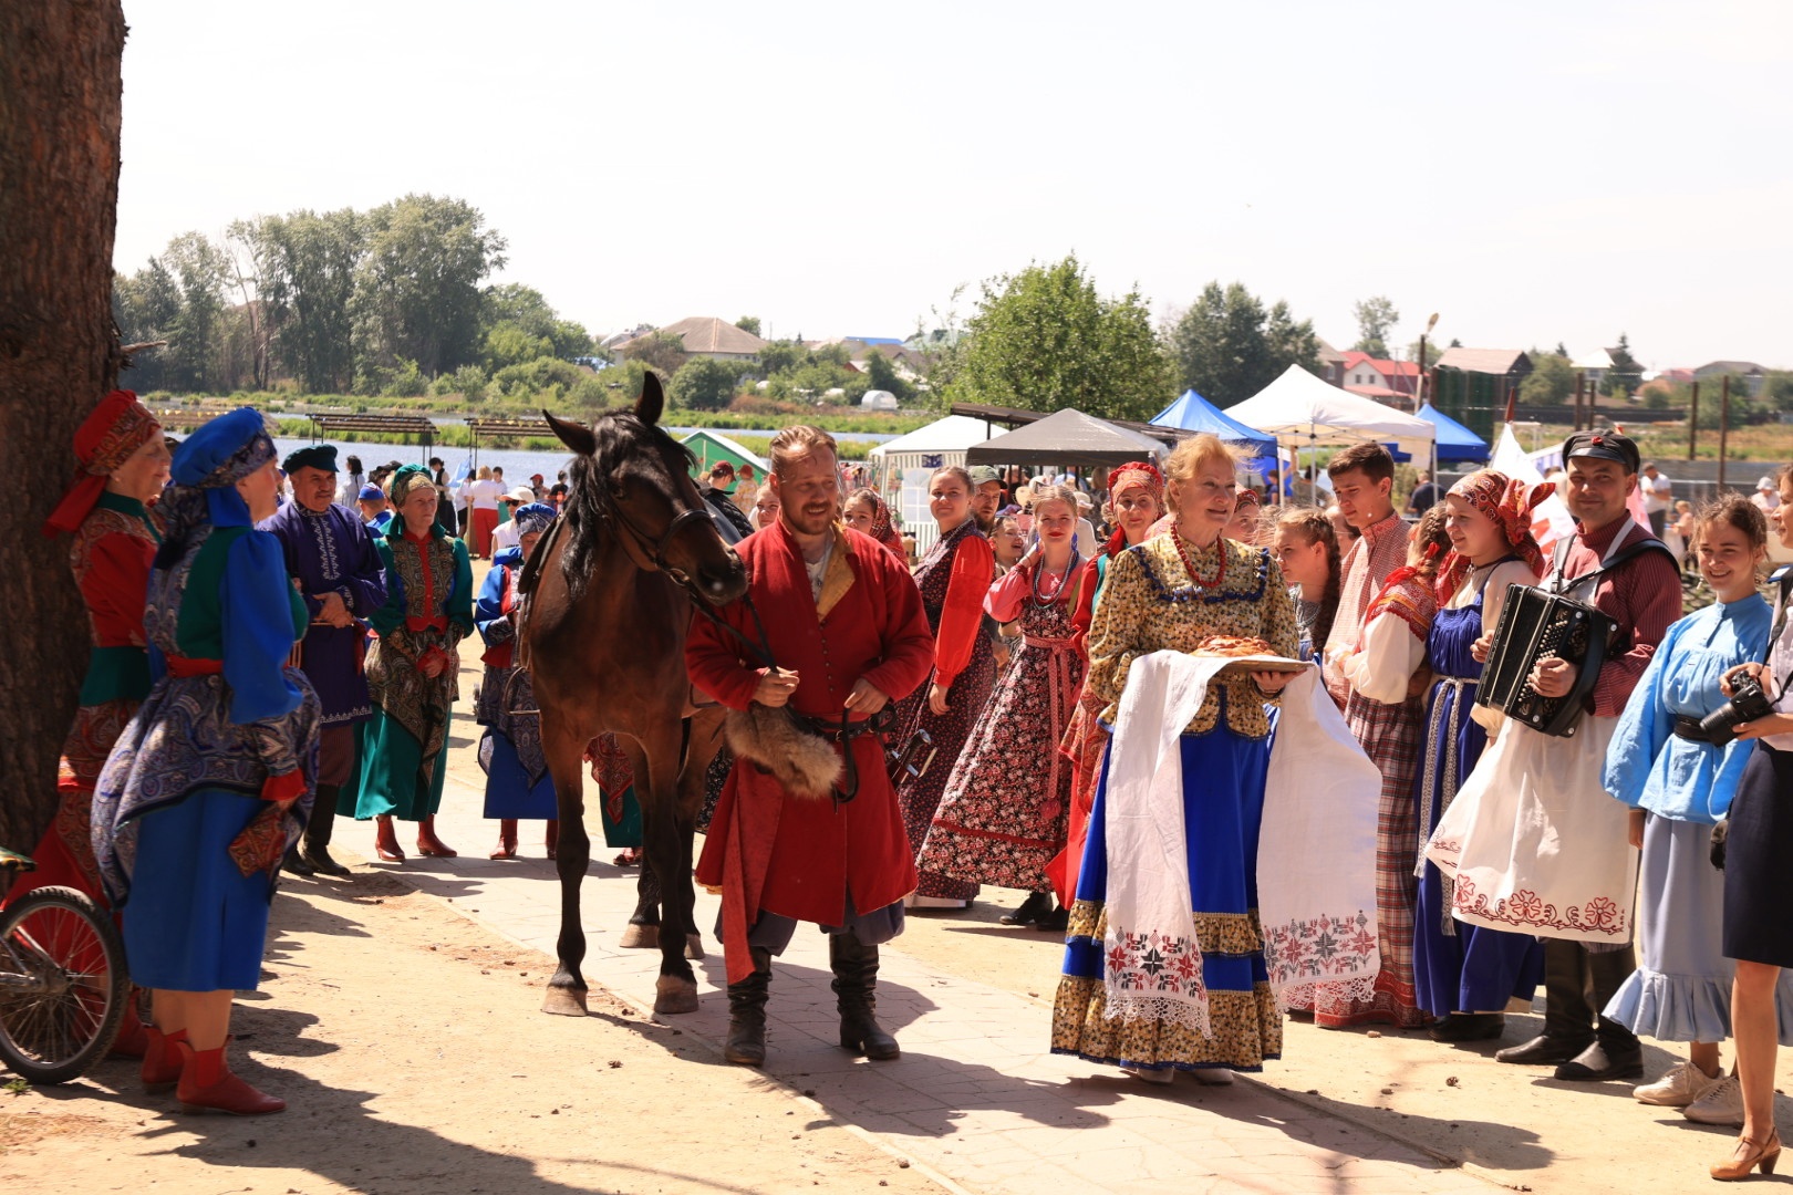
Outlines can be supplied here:
M448 718L459 693L455 647L473 631L473 566L466 545L436 521L436 486L421 464L393 475L393 520L380 539L385 606L369 622L373 718L360 727L360 776L339 812L375 819L375 851L403 862L393 819L418 822L418 855L452 858L436 837L448 776Z

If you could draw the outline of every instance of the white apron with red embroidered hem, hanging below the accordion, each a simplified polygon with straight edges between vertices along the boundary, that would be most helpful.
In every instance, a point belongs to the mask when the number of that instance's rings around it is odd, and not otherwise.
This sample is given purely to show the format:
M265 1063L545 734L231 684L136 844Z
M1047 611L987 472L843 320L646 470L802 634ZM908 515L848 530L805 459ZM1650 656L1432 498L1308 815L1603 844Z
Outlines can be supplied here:
M1425 844L1425 858L1456 881L1458 921L1608 946L1630 941L1630 810L1599 781L1617 726L1587 715L1572 738L1501 726Z

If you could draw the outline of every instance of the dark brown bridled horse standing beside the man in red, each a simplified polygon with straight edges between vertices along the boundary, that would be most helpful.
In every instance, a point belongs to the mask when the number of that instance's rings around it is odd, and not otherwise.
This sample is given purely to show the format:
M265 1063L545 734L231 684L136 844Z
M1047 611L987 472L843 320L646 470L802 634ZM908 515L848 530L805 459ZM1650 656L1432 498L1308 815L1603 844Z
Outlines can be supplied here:
M586 1012L579 881L592 844L583 765L586 745L604 731L617 735L635 769L645 864L671 878L654 1012L697 1009L697 980L685 962L696 935L692 822L714 749L689 760L683 751L685 631L694 600L732 602L746 593L748 577L690 480L690 453L658 426L663 407L660 380L649 373L633 412L610 412L590 428L547 416L577 460L561 525L529 563L522 640L561 824L559 967L541 1003L561 1016Z

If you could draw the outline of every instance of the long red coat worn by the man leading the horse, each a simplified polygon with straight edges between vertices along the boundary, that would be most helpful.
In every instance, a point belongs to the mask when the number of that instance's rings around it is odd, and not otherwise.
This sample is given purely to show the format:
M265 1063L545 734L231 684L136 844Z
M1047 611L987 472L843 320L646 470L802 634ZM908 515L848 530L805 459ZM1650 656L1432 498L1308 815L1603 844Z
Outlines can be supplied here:
M839 529L836 536L819 602L810 597L801 552L782 521L735 545L753 579L749 595L773 659L798 674L791 708L816 718L839 718L861 677L900 701L934 665L934 636L909 572L857 530ZM757 640L744 602L719 615ZM764 672L746 647L706 618L692 620L685 665L697 688L732 709L748 708ZM746 932L762 910L841 924L848 892L853 908L873 912L914 890L914 855L884 772L884 747L877 735L852 742L859 795L843 804L789 797L753 763L735 763L697 860L697 881L723 889L730 980L753 971Z

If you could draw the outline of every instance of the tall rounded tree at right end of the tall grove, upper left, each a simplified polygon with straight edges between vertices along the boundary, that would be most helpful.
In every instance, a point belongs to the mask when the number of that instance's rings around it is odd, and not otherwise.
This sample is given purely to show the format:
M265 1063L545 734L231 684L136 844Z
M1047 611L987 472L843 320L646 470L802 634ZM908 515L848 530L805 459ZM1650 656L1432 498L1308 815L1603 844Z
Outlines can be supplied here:
M479 358L481 283L506 238L461 199L405 195L368 213L357 278L362 367L414 360L436 376Z

